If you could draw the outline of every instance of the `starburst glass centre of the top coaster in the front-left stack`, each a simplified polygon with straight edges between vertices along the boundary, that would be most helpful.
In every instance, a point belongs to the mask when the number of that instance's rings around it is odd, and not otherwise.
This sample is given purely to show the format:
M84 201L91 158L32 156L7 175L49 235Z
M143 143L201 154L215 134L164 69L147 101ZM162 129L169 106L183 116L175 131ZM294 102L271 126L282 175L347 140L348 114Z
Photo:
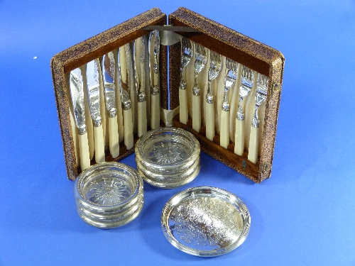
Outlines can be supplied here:
M94 204L104 206L120 204L129 199L132 194L131 186L126 179L102 177L95 181L87 190L87 199Z

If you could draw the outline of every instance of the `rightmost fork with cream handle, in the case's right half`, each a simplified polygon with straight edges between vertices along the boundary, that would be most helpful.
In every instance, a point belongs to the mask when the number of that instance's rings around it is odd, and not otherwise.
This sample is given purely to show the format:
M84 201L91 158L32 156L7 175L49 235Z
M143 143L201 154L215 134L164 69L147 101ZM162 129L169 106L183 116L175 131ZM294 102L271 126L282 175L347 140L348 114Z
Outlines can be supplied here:
M256 163L258 162L258 138L259 138L259 119L258 109L268 96L268 77L258 73L258 83L255 93L255 109L253 119L251 121L250 138L249 138L249 153L248 160Z

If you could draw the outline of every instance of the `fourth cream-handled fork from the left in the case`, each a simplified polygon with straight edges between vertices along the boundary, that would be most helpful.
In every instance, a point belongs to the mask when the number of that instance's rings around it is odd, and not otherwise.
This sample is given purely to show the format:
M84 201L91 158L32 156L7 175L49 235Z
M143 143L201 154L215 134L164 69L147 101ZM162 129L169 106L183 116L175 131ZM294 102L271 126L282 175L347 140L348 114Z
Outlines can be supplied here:
M223 148L227 148L229 145L229 103L228 103L228 92L231 87L236 83L236 78L238 77L238 66L237 62L226 58L226 77L224 77L224 99L222 103L221 112L221 132L220 132L220 143Z

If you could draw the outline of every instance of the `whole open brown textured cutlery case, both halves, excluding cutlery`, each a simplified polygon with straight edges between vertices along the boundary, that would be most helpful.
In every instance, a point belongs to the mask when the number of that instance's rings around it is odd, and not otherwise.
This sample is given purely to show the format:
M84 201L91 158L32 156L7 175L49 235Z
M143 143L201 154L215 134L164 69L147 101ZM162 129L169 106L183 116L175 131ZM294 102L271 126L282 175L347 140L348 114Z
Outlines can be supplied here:
M166 15L160 9L151 9L131 18L129 21L110 28L99 35L96 35L82 43L72 46L55 55L51 60L55 99L58 109L60 131L67 167L67 177L74 180L80 173L75 160L75 148L72 138L72 127L70 124L70 95L67 95L68 84L65 74L74 70L97 57L119 48L121 45L131 42L136 38L148 33L141 28L144 26L164 25ZM224 162L232 169L244 174L254 182L260 183L263 179L270 177L271 165L273 162L273 150L275 146L275 133L278 120L278 109L280 105L280 88L283 79L283 66L285 59L283 55L256 40L253 40L241 33L226 28L219 23L209 20L193 11L179 8L169 16L169 24L174 26L189 26L197 29L200 33L178 34L190 40L204 45L204 47L219 52L242 65L246 65L257 72L269 77L268 99L266 101L266 123L263 128L263 142L261 158L257 165L249 162L247 152L243 156L234 154L234 143L228 149L219 146L219 136L210 141L205 138L204 128L200 133L194 131L191 121L184 125L174 119L174 126L185 128L192 132L200 141L202 150L217 160ZM169 62L168 62L169 49ZM169 64L169 67L168 67ZM169 80L168 80L169 71ZM178 86L180 79L180 43L166 47L160 45L160 102L163 109L175 109L178 107ZM273 86L276 84L277 86ZM170 93L168 92L170 87ZM170 102L170 106L169 103ZM137 136L136 136L137 139ZM135 139L135 140L136 140ZM107 153L107 161L121 160L121 158L133 153L133 149L126 150L122 145L120 156L113 159ZM92 164L94 161L92 162Z

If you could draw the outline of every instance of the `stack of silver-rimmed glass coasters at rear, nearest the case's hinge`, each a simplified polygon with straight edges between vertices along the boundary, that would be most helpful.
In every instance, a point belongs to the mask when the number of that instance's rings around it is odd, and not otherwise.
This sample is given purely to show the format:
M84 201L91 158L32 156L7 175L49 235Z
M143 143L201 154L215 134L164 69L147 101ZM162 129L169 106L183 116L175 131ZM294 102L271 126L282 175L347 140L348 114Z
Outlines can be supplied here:
M200 143L181 128L158 128L137 141L136 163L148 184L165 189L180 187L200 172Z

